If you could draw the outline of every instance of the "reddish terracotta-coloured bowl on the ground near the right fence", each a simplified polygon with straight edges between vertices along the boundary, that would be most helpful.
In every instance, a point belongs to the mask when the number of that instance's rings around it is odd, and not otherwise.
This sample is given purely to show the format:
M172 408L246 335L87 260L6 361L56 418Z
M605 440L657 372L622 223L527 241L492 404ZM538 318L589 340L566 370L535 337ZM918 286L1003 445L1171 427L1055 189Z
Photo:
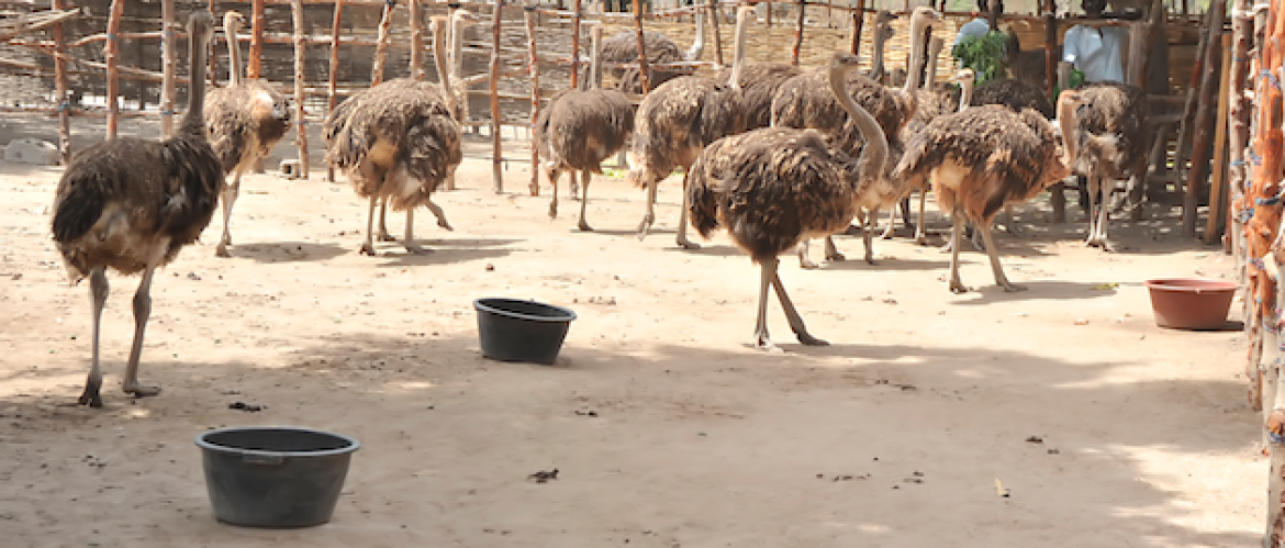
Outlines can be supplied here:
M1222 329L1227 324L1236 283L1216 279L1169 278L1144 282L1151 292L1155 324L1171 329Z

